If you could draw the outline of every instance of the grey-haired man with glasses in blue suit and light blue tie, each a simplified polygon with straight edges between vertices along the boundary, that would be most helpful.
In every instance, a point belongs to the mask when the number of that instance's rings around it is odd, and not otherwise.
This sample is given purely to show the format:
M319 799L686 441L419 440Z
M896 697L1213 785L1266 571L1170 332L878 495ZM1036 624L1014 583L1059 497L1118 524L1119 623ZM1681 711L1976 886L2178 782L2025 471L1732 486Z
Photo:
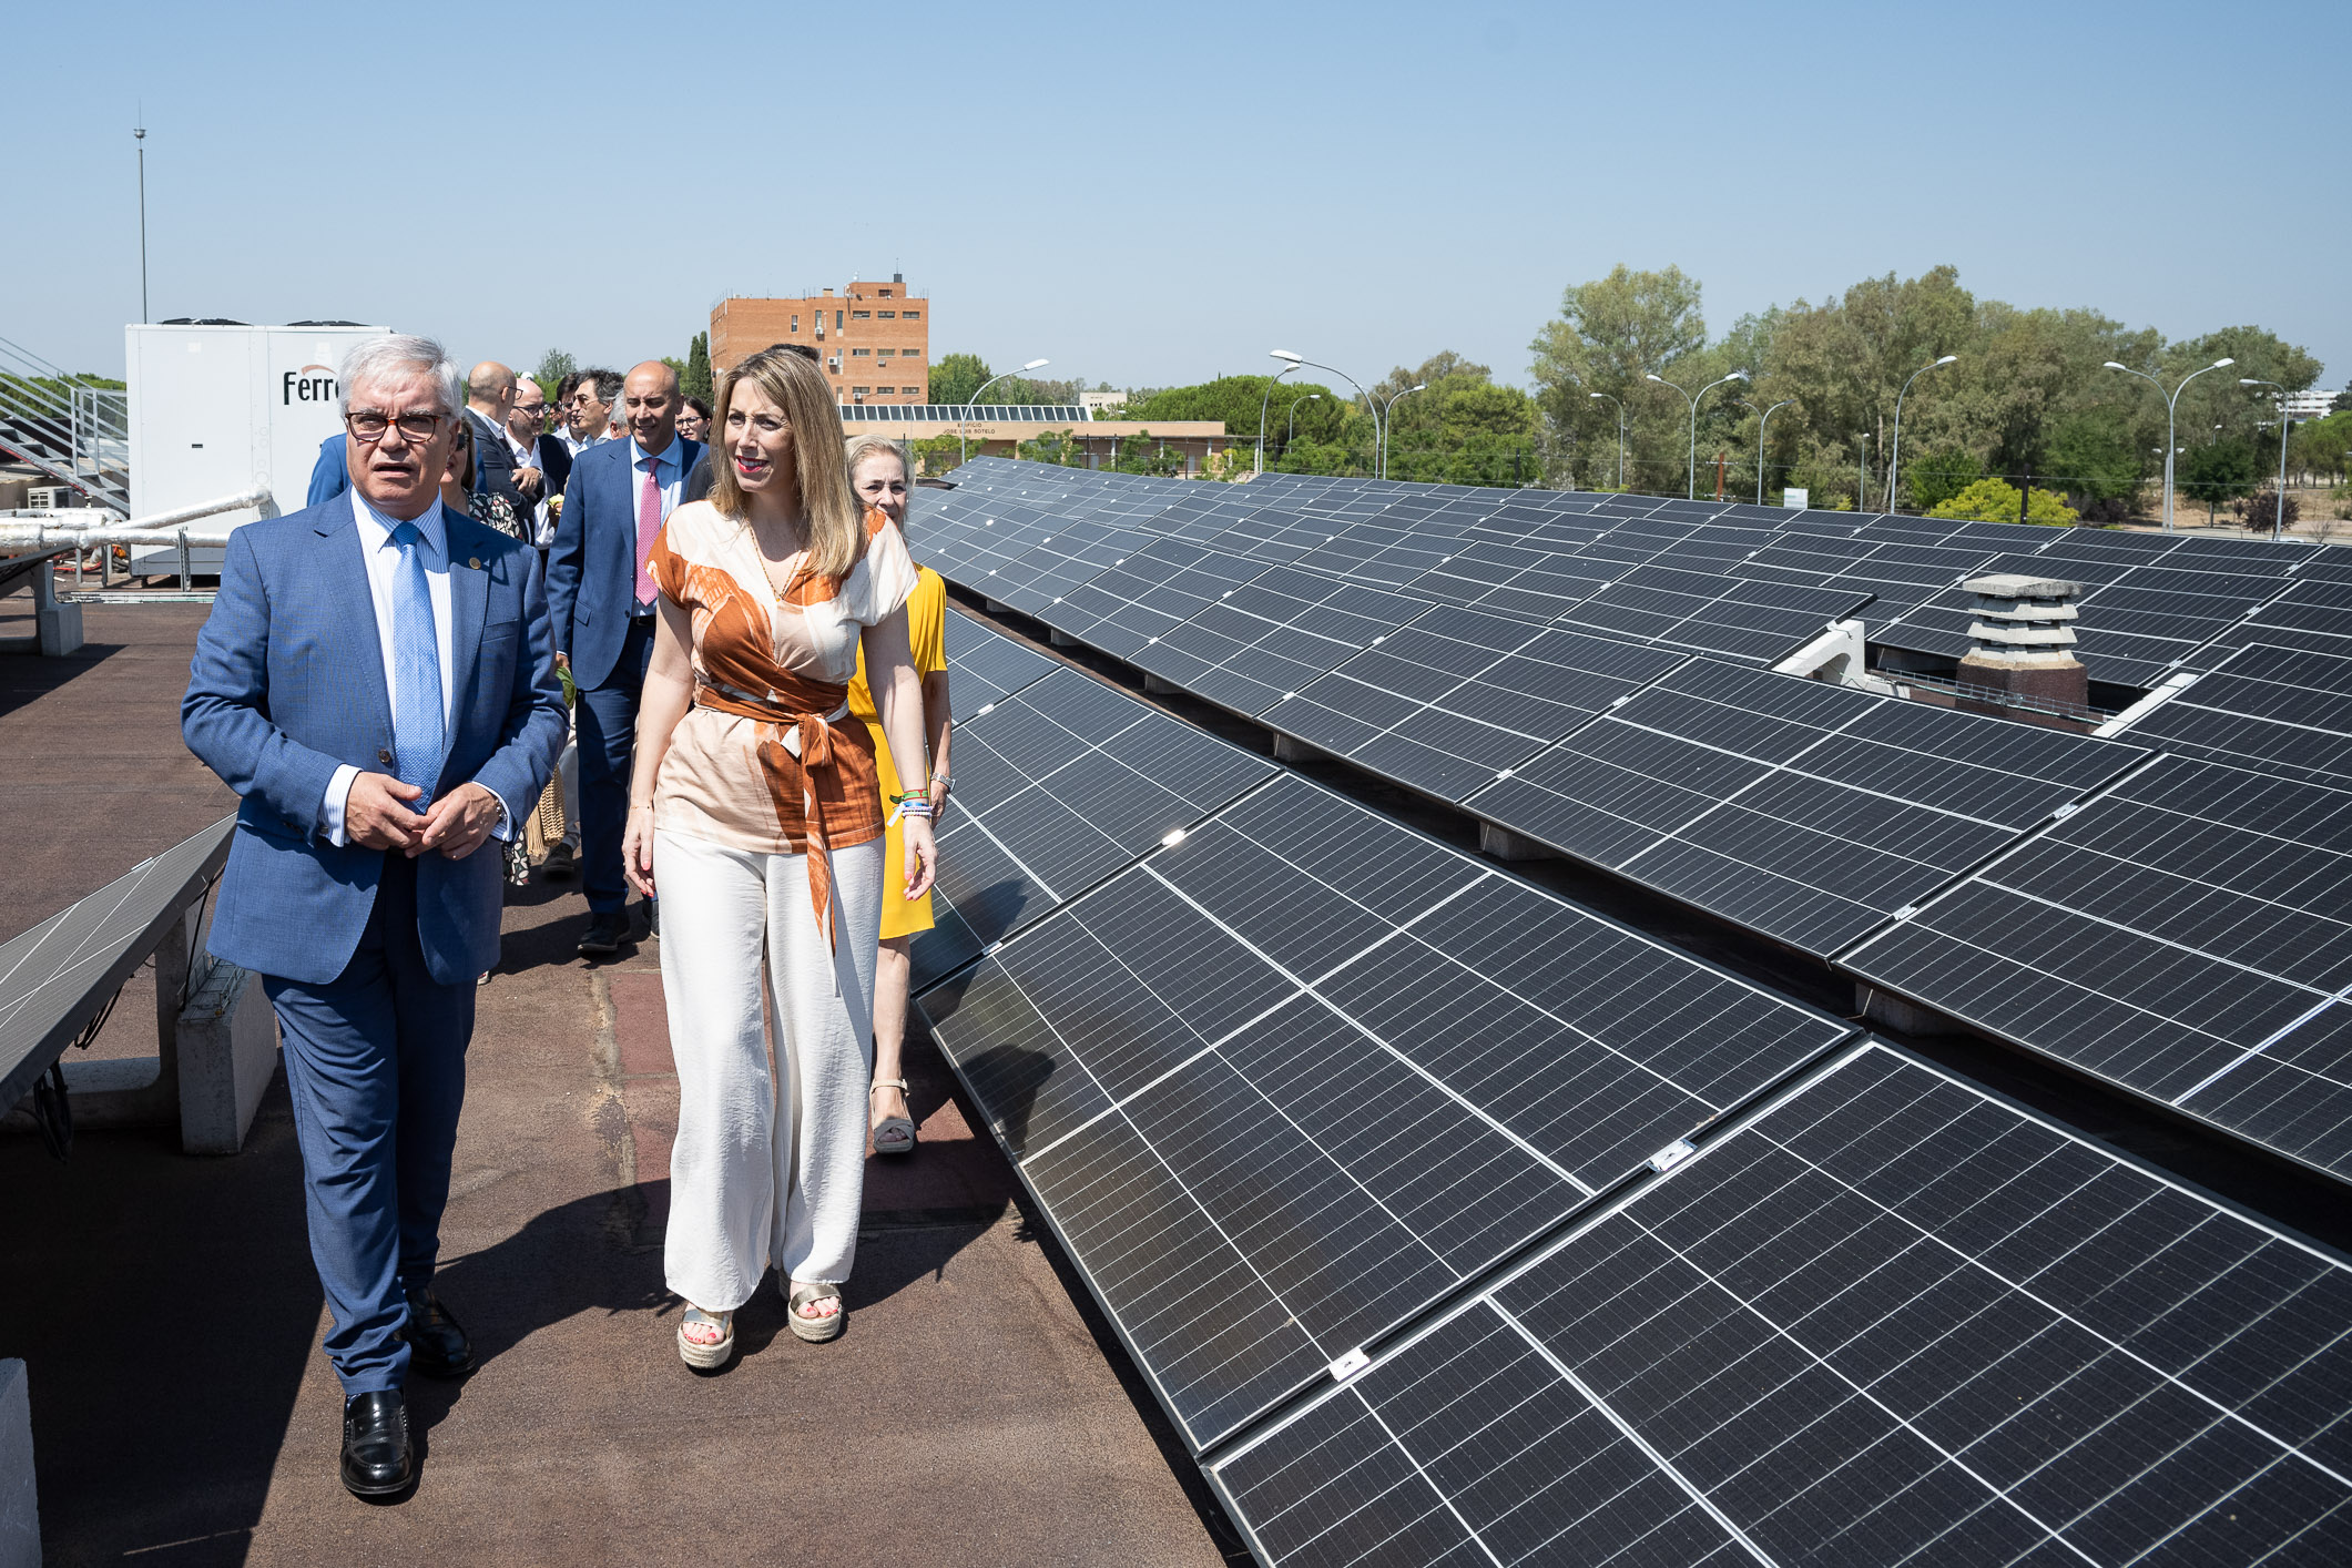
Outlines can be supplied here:
M440 503L459 418L440 343L350 350L350 489L230 534L181 703L240 797L209 945L278 1009L341 1474L365 1497L416 1479L407 1373L473 1366L433 1265L475 978L499 959L501 856L475 851L564 738L532 548Z

